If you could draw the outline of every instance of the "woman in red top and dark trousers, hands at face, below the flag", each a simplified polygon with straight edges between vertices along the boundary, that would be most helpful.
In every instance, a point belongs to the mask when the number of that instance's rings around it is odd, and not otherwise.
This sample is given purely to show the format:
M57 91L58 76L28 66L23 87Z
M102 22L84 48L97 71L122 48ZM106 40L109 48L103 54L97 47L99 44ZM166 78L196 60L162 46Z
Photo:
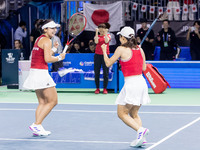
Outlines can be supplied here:
M94 55L94 73L95 73L95 84L96 84L96 91L95 94L99 94L99 76L100 76L100 69L101 66L103 68L103 94L107 94L107 85L108 85L108 74L109 68L105 65L103 59L103 52L101 49L102 44L107 45L106 53L109 55L109 42L111 40L111 35L108 34L108 29L110 28L109 23L102 23L99 24L98 28L96 29L96 35L94 37L94 42L96 43L95 55Z

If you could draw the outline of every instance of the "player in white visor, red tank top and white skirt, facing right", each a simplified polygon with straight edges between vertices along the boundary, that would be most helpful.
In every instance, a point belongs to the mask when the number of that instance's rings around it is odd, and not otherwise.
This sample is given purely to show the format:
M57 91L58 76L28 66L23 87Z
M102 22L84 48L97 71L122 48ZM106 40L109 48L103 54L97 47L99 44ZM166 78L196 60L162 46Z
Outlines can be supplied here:
M32 50L31 69L27 79L24 82L24 88L33 89L38 98L39 105L35 113L35 122L29 127L36 136L47 136L51 134L42 126L42 121L57 104L57 92L55 82L48 73L47 63L53 63L65 58L62 53L59 56L52 56L56 51L58 44L55 43L52 48L51 38L56 34L57 27L53 20L39 20L39 27L43 34L35 41Z

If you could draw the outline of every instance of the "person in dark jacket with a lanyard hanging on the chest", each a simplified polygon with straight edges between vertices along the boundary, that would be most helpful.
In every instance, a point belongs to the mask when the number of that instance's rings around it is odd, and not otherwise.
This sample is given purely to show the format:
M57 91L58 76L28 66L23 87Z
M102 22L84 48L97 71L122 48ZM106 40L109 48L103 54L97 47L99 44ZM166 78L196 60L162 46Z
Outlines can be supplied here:
M160 46L160 60L175 59L176 35L169 27L169 21L163 21L163 29L157 34L157 43Z

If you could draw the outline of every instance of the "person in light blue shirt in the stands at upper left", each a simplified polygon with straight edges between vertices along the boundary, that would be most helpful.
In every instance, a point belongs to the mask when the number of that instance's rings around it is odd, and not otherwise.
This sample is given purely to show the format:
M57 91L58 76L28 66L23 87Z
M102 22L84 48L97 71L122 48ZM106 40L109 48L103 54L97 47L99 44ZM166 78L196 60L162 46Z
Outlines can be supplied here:
M15 31L14 39L20 40L23 43L23 38L27 36L26 22L20 21L18 28Z

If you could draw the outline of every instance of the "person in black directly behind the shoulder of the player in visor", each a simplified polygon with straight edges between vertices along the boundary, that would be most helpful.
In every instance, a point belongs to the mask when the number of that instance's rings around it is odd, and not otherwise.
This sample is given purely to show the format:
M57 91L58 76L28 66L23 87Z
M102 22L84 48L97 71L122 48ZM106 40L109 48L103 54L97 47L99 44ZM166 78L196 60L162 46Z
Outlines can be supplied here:
M34 46L35 40L41 35L40 31L38 30L38 23L39 19L36 19L34 22L34 28L31 30L30 41L32 47Z

